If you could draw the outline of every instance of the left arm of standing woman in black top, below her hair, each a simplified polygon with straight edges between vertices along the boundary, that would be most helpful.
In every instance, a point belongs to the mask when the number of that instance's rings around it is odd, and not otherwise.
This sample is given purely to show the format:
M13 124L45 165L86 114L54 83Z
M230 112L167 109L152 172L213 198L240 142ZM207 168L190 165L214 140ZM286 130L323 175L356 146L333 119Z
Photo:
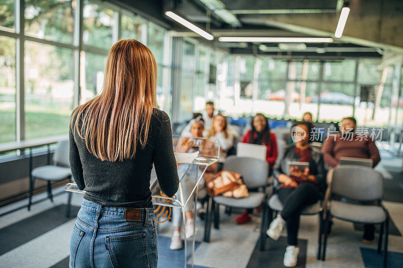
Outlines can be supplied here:
M73 121L75 122L75 121ZM73 126L74 128L74 123ZM70 161L70 169L72 170L74 181L77 184L77 187L80 190L84 190L84 175L83 175L83 164L81 163L79 149L77 147L76 141L74 140L74 134L72 131L72 127L69 126L69 161Z

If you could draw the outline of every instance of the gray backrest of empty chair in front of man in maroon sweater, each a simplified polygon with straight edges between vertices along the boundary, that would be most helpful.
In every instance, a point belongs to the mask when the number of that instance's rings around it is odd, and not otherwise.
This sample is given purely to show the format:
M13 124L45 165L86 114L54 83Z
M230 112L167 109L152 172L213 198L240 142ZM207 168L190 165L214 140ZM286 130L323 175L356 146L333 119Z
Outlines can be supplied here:
M378 200L383 197L383 177L370 167L341 165L333 170L331 192L359 201Z

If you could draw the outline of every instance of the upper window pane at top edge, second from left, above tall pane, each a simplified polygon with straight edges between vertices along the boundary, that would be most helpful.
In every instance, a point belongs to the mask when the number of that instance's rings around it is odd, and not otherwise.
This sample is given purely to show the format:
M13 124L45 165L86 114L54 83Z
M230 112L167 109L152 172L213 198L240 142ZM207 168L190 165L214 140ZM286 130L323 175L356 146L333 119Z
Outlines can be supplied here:
M73 43L73 1L25 1L25 34L60 43Z

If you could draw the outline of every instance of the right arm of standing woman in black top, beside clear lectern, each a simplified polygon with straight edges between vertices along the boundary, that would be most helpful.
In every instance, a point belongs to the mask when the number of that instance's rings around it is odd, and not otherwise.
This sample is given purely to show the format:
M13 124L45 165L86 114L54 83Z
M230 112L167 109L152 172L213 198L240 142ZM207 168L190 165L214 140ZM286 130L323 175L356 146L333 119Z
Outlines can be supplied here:
M173 153L171 122L165 112L160 120L153 160L160 189L168 197L172 197L178 191L179 177Z

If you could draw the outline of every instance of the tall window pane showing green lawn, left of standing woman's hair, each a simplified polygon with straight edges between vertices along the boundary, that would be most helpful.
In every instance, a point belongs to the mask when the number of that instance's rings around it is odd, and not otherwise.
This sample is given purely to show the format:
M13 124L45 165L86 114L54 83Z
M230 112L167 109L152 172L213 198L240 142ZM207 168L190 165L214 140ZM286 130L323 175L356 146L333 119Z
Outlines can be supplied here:
M25 138L69 132L73 50L25 42Z

